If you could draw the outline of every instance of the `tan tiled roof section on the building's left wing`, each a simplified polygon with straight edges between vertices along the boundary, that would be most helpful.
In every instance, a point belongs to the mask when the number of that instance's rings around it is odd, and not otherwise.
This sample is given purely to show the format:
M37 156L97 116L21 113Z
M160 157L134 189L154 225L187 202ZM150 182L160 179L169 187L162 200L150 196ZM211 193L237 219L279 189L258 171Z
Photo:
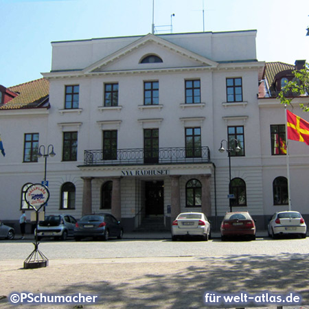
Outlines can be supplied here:
M49 81L45 78L25 82L13 87L10 91L17 93L16 98L0 106L0 109L49 108Z

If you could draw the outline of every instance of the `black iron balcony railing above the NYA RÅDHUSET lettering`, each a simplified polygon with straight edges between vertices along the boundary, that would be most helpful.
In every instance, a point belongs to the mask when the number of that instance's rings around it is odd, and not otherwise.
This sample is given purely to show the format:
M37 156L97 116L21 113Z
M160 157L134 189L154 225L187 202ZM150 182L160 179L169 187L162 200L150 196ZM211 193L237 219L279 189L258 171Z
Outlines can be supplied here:
M84 165L149 165L210 163L209 148L119 149L115 152L84 150Z

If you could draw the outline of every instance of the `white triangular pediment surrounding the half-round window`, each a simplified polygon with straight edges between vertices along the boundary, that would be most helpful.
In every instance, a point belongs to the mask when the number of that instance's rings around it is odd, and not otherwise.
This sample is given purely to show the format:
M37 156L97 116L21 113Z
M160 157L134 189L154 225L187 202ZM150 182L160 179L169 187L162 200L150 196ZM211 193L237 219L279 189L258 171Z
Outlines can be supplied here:
M146 56L155 55L162 62L141 63ZM218 62L209 60L188 49L170 43L163 38L148 34L117 52L102 58L83 70L85 74L108 71L144 71L156 69L181 69L190 67L217 67Z

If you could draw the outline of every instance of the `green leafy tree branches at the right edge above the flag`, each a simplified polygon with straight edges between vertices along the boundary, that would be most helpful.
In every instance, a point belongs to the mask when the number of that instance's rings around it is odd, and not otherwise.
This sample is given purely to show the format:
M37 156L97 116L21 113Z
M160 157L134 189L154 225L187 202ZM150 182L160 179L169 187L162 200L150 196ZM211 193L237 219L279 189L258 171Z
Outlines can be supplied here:
M290 105L292 100L299 96L308 96L309 93L309 65L301 70L293 71L295 78L288 82L279 92L278 98L281 104ZM303 111L309 111L309 100L306 104L299 103Z

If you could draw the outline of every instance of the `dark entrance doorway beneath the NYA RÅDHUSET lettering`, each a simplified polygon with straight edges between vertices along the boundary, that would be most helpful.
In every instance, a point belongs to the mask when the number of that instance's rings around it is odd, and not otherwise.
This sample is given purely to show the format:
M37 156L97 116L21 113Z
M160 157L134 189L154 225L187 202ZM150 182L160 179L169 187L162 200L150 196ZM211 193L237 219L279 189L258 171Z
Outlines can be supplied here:
M164 182L146 181L145 183L145 211L146 216L164 214Z

